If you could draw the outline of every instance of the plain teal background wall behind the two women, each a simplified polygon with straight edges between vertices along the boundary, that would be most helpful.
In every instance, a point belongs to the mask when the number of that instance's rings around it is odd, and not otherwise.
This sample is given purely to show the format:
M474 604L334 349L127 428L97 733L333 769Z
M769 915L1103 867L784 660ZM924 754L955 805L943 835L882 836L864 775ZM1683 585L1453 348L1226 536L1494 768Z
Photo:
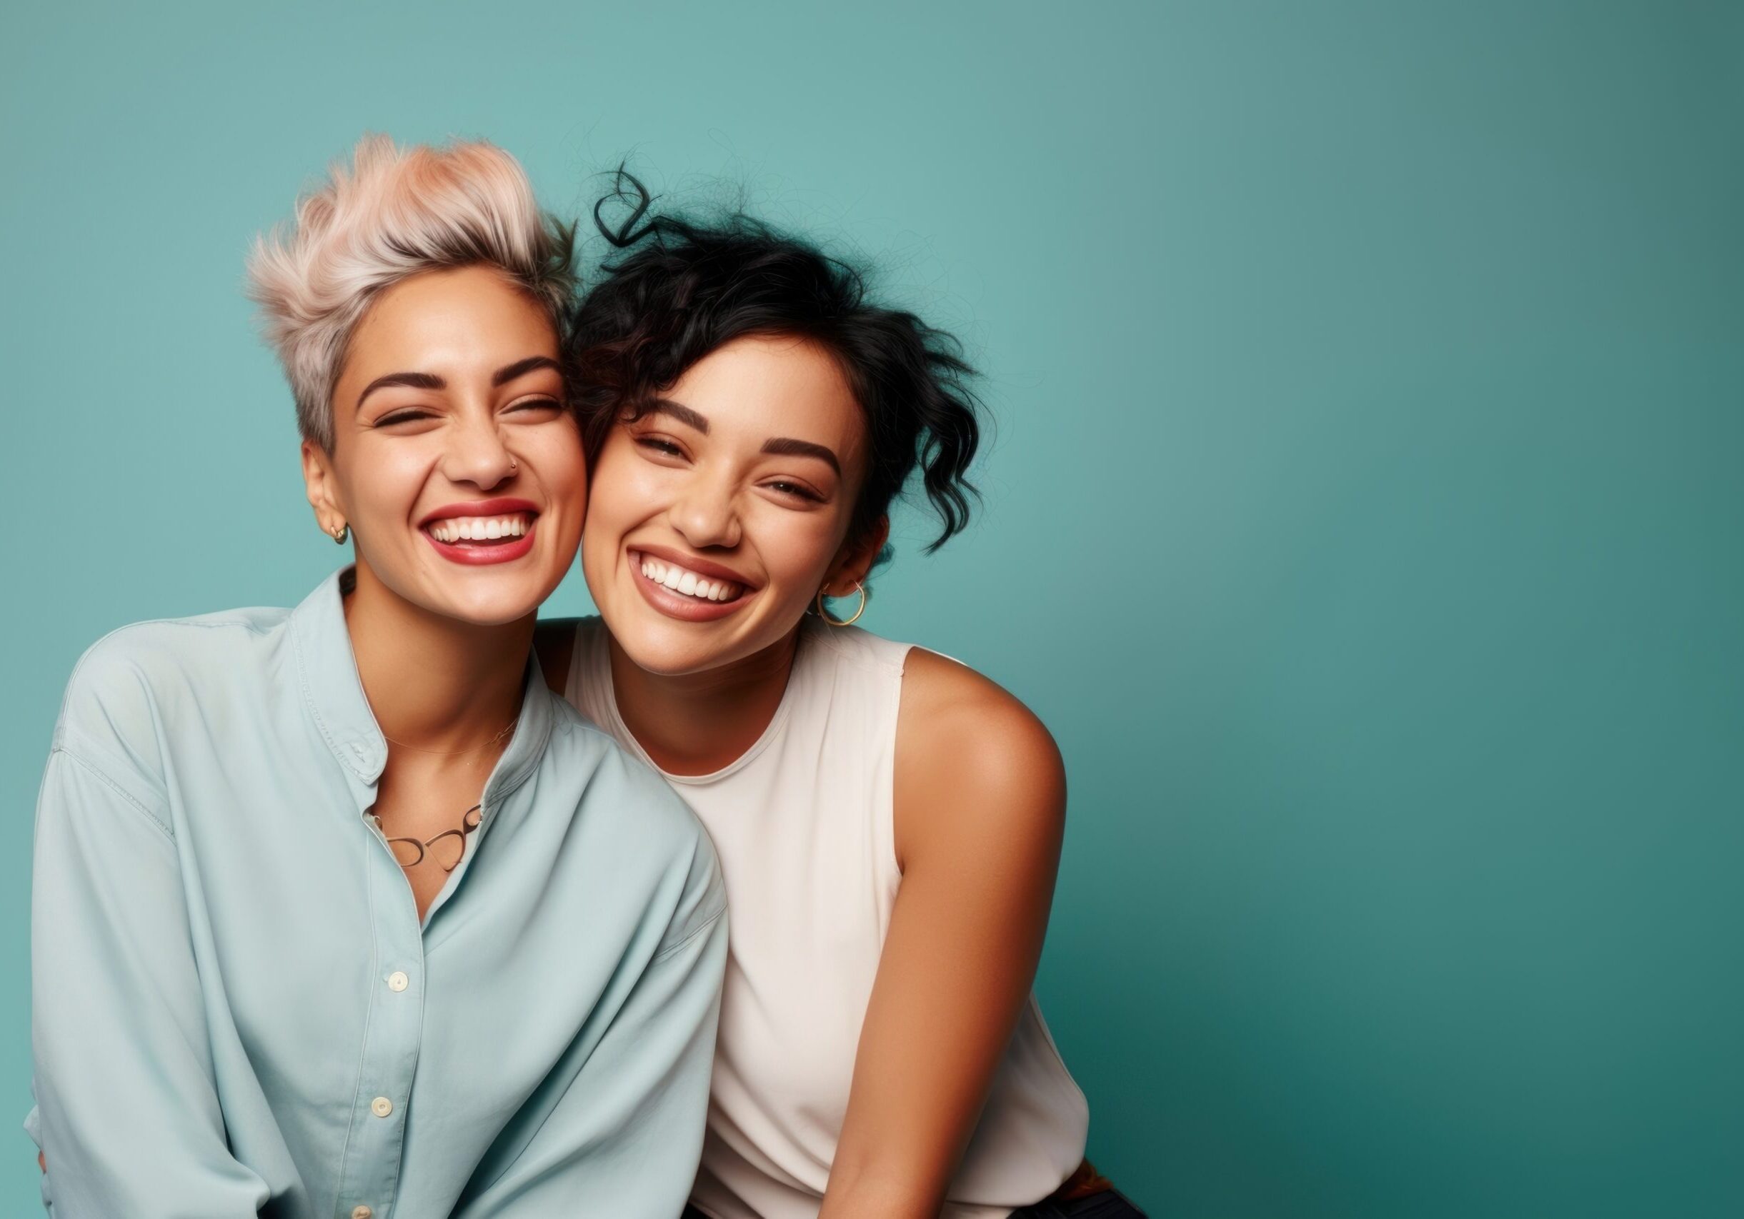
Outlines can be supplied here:
M987 368L869 624L1064 746L1038 989L1153 1216L1744 1214L1741 68L1672 0L7 5L0 1120L73 659L337 558L246 244L481 134L748 183Z

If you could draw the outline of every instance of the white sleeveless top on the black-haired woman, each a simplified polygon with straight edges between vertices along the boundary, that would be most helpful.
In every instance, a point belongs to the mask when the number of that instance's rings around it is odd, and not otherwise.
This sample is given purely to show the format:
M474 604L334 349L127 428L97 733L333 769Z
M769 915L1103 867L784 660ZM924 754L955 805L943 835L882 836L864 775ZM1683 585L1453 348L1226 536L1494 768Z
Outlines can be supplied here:
M757 743L713 774L666 774L727 882L720 1041L691 1198L715 1219L816 1217L902 884L891 776L909 645L804 623ZM576 633L565 692L652 766L617 713L595 617ZM1031 996L942 1216L992 1219L1048 1196L1083 1158L1088 1121Z

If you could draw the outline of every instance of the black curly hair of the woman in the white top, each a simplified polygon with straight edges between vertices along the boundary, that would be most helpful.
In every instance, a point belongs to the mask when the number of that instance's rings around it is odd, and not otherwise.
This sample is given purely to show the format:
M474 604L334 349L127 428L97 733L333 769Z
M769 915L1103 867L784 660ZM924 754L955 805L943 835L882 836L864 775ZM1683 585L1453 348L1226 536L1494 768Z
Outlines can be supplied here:
M961 532L977 495L968 469L980 403L956 338L870 302L860 270L745 213L703 223L651 215L652 204L617 169L593 208L600 234L626 253L602 265L567 344L589 459L614 424L640 417L712 351L746 335L790 335L835 358L865 413L867 478L848 537L877 527L916 466L942 521L926 553ZM609 223L610 206L628 208L628 218Z

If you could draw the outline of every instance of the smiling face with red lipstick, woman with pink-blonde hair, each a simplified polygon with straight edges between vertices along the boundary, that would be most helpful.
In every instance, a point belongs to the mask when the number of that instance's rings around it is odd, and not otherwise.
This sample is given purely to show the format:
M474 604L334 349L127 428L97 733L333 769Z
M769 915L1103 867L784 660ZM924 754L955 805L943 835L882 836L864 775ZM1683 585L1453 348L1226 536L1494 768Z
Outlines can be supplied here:
M546 312L490 267L385 289L333 389L331 452L305 441L309 502L364 569L441 617L532 614L581 539L588 473Z

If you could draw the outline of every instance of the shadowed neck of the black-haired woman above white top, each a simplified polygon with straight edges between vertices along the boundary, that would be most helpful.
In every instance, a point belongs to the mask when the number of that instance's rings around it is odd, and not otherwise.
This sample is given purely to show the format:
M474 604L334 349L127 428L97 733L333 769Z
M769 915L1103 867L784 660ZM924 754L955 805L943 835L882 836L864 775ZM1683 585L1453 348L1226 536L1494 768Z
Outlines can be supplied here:
M649 673L607 637L617 713L668 774L713 774L769 727L787 692L799 628L741 661L701 673Z

